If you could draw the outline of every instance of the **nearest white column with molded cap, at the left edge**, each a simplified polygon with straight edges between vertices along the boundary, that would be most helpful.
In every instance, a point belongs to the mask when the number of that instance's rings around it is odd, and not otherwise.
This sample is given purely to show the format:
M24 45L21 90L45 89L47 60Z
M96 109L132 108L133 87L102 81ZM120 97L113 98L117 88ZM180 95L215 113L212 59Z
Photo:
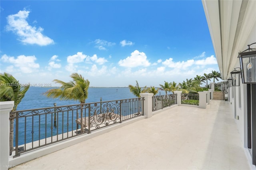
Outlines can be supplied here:
M0 169L8 170L10 155L10 111L14 106L14 101L0 102Z

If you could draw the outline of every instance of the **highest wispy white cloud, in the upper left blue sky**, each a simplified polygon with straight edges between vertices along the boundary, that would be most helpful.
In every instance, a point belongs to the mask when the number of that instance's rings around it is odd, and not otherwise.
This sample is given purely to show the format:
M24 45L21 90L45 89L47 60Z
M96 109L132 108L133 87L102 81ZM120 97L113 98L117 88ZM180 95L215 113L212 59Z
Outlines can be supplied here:
M24 44L49 45L54 43L52 39L42 34L43 28L32 27L26 19L30 11L19 11L17 14L7 16L6 29L18 35L18 40Z

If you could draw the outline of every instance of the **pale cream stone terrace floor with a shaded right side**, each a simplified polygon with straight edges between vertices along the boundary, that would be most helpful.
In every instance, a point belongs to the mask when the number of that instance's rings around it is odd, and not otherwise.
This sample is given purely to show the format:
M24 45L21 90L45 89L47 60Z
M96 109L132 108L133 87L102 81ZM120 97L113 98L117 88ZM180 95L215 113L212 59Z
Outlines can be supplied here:
M229 111L172 107L11 169L251 169Z

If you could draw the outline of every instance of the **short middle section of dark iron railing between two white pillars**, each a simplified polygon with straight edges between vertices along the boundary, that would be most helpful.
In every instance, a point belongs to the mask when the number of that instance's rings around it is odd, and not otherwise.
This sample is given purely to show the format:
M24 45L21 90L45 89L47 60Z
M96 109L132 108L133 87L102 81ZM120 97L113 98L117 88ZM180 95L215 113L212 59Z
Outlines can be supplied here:
M152 111L177 104L177 94L152 96Z

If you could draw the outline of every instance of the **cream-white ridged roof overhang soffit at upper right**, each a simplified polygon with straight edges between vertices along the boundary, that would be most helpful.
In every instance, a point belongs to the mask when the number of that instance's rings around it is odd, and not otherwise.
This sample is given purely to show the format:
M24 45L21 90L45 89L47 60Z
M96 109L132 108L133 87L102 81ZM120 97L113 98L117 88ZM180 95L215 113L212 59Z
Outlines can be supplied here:
M239 67L238 52L247 47L256 22L255 0L202 0L222 79ZM255 38L256 40L256 38ZM252 42L249 42L252 43Z

